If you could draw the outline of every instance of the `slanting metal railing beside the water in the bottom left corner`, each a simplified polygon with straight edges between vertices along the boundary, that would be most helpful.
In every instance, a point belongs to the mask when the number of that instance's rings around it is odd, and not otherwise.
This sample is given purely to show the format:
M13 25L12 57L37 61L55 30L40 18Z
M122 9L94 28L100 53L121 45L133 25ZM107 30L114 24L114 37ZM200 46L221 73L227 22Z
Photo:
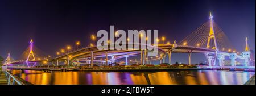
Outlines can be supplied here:
M20 81L18 78L16 78L15 76L13 76L13 74L5 71L5 75L7 78L7 84L8 85L25 85L22 81Z

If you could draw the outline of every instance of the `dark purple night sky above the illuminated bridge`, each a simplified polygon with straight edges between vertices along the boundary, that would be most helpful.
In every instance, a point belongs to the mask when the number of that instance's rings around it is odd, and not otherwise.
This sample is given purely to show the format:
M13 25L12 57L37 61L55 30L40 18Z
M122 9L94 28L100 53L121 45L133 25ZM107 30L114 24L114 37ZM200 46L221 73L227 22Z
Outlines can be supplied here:
M241 1L0 1L0 55L18 58L33 39L49 55L81 41L86 47L98 30L159 30L166 41L182 40L209 20L229 37L237 51L245 37L255 52L255 0ZM254 53L255 54L255 53ZM187 62L187 54L172 61ZM255 57L254 57L255 59ZM205 61L192 54L192 63Z

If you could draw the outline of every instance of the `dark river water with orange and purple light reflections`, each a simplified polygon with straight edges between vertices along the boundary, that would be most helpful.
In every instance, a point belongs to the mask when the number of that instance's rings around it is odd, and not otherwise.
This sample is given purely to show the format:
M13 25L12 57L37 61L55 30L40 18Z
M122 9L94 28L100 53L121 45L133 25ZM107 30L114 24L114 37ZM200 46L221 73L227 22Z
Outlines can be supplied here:
M15 71L13 70L13 73ZM26 70L16 74L36 85L233 85L245 84L255 72L217 70L170 72L41 72Z

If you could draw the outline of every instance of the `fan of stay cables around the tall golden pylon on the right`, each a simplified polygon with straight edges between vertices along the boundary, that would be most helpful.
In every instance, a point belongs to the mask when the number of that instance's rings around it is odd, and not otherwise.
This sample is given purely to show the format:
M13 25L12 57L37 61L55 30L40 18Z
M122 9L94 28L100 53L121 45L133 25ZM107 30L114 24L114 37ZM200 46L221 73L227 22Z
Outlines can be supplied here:
M214 30L214 37L216 39L218 50L234 49L228 37L225 35L225 33L221 30L220 27L218 27L218 25L214 21L213 21L213 30ZM179 45L189 45L193 47L207 48L207 41L208 41L209 34L210 34L210 20L208 22L205 22L203 25L201 25L199 28L197 28L195 31L193 31L191 34L189 34L187 37L181 40L179 42ZM215 46L216 45L214 45L214 40L210 39L209 48L216 49L214 48Z

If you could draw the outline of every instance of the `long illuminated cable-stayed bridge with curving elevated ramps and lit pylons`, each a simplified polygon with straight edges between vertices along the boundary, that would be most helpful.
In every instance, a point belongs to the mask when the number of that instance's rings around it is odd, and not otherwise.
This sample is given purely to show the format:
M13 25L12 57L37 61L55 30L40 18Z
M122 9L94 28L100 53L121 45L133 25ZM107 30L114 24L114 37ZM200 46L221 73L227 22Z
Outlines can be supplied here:
M185 37L179 43L174 41L170 44L158 44L158 55L155 57L147 56L147 49L128 49L125 51L118 50L98 50L96 46L85 47L77 49L76 51L63 53L53 58L44 57L36 58L36 53L33 51L33 41L30 41L30 47L27 58L23 60L11 61L10 54L6 59L5 65L13 66L15 64L24 64L28 67L35 67L40 64L49 64L59 66L60 62L65 65L80 65L89 64L94 65L108 65L117 62L121 65L128 65L133 63L151 64L151 61L159 60L161 63L171 64L172 53L188 53L188 64L191 64L192 53L203 53L207 58L209 68L254 68L255 60L253 60L253 53L250 51L247 38L245 40L245 50L241 53L234 50L232 43L230 43L225 33L214 22L212 14L209 16L209 21L193 31L190 35ZM141 48L141 44L138 44ZM109 45L108 45L109 46ZM131 56L141 56L138 60L128 60ZM168 57L168 61L166 58ZM125 59L119 61L119 59Z

